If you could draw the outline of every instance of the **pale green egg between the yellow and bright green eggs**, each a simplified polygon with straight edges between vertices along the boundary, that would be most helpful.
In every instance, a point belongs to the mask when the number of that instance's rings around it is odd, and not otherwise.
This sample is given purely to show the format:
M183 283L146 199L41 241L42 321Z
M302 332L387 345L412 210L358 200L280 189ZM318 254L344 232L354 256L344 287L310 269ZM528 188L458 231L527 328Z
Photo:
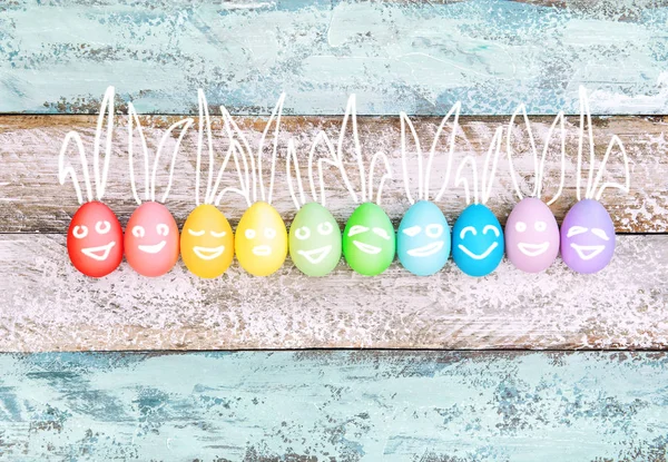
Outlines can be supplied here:
M341 229L325 207L305 204L289 227L289 257L302 273L324 276L341 259Z

